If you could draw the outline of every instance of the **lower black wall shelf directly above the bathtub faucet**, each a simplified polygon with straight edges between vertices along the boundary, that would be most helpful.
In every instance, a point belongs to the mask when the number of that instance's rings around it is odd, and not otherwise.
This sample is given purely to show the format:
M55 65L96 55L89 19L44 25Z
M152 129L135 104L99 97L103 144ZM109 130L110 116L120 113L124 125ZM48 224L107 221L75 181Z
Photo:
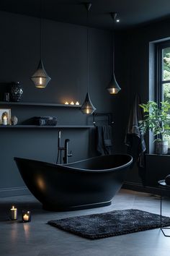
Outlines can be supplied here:
M0 125L0 129L17 129L17 128L35 128L35 129L62 129L62 128L73 128L73 129L89 129L93 128L94 125L56 125L56 126L39 126L39 125Z

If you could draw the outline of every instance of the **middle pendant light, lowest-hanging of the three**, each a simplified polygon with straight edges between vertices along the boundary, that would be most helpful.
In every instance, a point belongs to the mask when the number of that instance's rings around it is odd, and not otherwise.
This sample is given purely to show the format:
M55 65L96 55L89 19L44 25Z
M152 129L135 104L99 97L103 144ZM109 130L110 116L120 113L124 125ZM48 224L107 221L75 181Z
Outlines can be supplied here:
M87 93L85 101L80 109L83 114L93 114L96 108L91 103L89 95L89 10L91 8L91 3L85 3L84 5L87 10Z

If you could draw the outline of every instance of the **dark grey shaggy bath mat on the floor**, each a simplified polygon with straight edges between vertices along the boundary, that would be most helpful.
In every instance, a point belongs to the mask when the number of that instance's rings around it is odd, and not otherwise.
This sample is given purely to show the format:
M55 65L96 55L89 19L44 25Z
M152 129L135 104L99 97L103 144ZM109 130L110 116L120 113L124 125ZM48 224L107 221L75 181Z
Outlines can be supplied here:
M89 239L118 236L148 229L160 228L160 216L143 210L113 210L48 221L48 224ZM162 226L170 226L170 218L162 216Z

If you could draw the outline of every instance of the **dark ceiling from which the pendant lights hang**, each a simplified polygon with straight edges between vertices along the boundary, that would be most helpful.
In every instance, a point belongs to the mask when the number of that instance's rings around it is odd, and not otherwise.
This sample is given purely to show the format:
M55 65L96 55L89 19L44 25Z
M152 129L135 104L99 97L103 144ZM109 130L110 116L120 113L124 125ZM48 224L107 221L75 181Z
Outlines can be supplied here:
M0 10L40 17L41 0L1 0ZM170 17L169 0L91 0L89 25L111 30L136 27ZM84 1L42 0L42 16L50 20L86 25ZM117 12L119 23L110 12Z

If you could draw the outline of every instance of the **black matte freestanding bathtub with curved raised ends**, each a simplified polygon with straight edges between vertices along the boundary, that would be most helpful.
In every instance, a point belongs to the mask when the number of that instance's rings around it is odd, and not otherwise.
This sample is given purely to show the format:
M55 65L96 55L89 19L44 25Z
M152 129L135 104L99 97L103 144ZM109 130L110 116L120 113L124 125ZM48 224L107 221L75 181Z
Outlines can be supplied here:
M28 189L45 210L78 210L110 205L133 158L104 155L64 165L14 160Z

